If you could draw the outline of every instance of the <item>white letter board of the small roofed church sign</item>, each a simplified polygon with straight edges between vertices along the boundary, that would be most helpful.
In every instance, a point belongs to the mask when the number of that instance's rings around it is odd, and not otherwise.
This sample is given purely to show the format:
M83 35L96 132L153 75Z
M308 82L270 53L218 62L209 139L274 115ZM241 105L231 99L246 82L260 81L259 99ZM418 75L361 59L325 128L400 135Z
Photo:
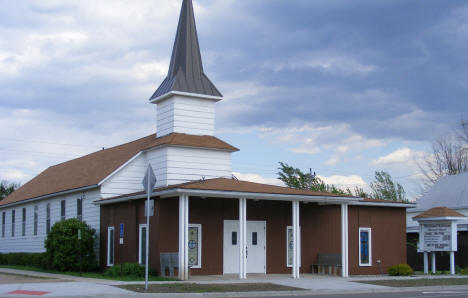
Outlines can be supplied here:
M422 251L456 251L452 241L452 224L444 223L421 223ZM456 234L455 234L456 235Z

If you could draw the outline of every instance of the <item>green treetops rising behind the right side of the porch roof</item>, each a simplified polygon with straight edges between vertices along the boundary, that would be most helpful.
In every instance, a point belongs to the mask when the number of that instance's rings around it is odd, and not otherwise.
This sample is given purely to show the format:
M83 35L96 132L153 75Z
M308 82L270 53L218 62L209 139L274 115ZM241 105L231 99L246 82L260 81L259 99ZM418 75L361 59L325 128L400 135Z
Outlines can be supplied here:
M278 168L278 179L283 181L288 187L297 189L307 189L311 191L328 192L339 195L367 197L368 195L362 188L356 187L353 191L351 189L341 189L333 184L327 184L322 179L317 177L312 171L304 173L299 168L294 168L287 163L280 162Z

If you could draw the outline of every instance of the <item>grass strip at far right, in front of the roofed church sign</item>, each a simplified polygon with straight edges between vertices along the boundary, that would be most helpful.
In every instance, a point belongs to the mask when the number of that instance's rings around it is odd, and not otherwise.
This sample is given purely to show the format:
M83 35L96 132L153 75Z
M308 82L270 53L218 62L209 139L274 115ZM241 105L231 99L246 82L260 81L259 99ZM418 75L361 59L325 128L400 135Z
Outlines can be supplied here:
M426 286L462 286L468 285L468 278L421 278L421 279L388 279L388 280L363 280L364 284L386 287L426 287Z

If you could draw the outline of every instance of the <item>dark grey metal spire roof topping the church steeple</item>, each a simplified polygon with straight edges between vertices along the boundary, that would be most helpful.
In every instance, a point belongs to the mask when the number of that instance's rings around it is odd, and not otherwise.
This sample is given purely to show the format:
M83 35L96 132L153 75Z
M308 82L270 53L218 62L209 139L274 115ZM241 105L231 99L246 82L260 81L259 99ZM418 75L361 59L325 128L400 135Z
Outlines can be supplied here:
M169 72L150 100L171 91L222 97L203 72L192 0L183 0Z

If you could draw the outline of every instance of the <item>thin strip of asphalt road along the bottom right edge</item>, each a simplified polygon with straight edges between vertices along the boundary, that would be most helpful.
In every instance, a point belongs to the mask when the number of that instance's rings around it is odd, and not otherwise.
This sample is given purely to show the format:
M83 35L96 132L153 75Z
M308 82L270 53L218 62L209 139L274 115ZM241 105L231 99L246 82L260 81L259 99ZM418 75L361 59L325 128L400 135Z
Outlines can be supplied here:
M440 291L417 291L417 292L403 292L403 293L368 293L368 294L331 294L331 295L304 295L304 296L275 296L274 298L316 298L316 297L325 297L325 298L461 298L468 297L467 291L450 291L450 290L440 290Z

